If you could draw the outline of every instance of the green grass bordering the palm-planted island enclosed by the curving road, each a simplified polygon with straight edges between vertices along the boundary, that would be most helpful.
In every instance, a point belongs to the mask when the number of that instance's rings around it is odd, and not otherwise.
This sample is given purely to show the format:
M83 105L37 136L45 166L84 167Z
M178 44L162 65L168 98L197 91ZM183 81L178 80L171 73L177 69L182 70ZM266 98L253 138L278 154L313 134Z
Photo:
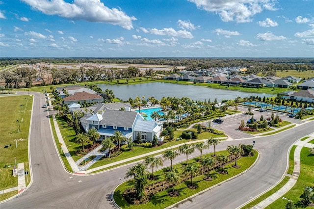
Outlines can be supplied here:
M222 154L222 153L226 153L226 151L222 151L222 152L217 152L217 154ZM211 155L211 154L208 154ZM205 155L204 155L205 157ZM231 166L230 163L228 165L225 166L225 168L228 170L228 175L221 175L218 173L217 170L211 171L210 174L213 178L213 181L208 182L208 181L204 181L203 177L205 177L204 175L200 175L198 177L194 177L193 178L193 182L197 185L196 189L189 189L186 184L190 183L190 180L185 181L184 183L181 183L179 185L175 186L175 189L177 191L179 191L180 195L178 197L170 197L167 194L167 190L161 191L159 193L157 193L156 195L154 195L151 199L151 201L147 204L144 205L130 205L128 204L124 198L122 197L122 193L126 188L132 187L133 186L133 181L127 181L125 183L122 183L121 185L119 185L116 190L114 191L114 200L115 202L124 209L148 209L148 208L154 208L154 209L163 209L166 208L170 205L173 205L193 194L196 194L206 188L209 188L210 186L213 186L217 183L220 183L224 180L227 180L233 176L235 176L236 174L239 174L241 172L243 172L244 170L246 170L247 168L249 168L257 159L258 154L256 154L254 157L242 157L240 159L237 160L237 163L239 163L239 165L241 165L240 168L236 169L234 167ZM189 163L195 163L198 164L199 162L197 162L197 159L199 159L198 157L190 159L188 162ZM182 165L185 164L183 163L178 163L176 165L174 165L173 167L179 171L181 173L181 168ZM164 170L159 170L154 172L154 175L158 177L157 181L160 180L164 180ZM206 175L206 173L205 173ZM151 183L151 182L150 182Z

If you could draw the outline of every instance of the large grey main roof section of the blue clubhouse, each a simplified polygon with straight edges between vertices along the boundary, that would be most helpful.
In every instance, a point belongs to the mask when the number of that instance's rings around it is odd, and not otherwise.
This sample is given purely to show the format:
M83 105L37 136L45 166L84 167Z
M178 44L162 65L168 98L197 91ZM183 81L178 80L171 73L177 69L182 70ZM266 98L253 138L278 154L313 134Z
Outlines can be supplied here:
M118 127L132 127L137 117L138 112L132 111L117 111L106 110L100 122L101 125L118 126Z

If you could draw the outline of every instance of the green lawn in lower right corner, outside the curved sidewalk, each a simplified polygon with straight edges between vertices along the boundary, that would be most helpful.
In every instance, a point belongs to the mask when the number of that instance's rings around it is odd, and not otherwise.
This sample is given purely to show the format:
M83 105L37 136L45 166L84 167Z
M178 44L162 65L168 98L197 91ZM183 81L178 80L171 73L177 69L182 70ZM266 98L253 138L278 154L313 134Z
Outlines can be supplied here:
M301 195L306 185L313 186L314 177L314 155L309 152L309 148L304 147L301 150L301 172L296 184L284 195L285 198L292 200L297 208L304 208L301 204ZM286 207L287 200L279 198L266 209L283 209ZM314 208L314 207L307 207Z

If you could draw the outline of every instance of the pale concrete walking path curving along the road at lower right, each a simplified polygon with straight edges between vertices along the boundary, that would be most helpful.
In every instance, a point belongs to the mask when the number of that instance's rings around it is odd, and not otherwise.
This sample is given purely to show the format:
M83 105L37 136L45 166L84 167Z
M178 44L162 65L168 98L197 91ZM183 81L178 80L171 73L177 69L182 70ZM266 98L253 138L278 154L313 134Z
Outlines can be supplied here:
M308 143L309 141L313 140L314 134L311 135L310 138L304 140L304 141L297 141L294 143L294 145L297 145L294 151L294 168L293 168L293 173L288 180L288 182L281 187L278 191L273 193L271 196L267 197L264 199L262 202L254 206L252 209L264 209L268 205L272 204L275 202L277 199L281 198L283 195L285 195L297 182L300 172L301 172L301 164L300 164L300 153L302 148L310 146L310 148L314 147L314 144Z

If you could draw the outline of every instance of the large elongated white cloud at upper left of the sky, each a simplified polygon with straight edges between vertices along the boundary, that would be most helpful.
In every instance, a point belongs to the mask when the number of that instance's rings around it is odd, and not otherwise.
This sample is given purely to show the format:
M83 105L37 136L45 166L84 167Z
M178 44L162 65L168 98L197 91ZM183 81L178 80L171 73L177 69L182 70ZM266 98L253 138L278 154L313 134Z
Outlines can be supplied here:
M128 16L124 11L116 8L109 9L100 0L73 0L71 3L64 0L23 0L32 8L46 15L85 20L88 22L101 22L118 25L125 29L132 29L134 16Z

